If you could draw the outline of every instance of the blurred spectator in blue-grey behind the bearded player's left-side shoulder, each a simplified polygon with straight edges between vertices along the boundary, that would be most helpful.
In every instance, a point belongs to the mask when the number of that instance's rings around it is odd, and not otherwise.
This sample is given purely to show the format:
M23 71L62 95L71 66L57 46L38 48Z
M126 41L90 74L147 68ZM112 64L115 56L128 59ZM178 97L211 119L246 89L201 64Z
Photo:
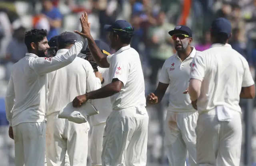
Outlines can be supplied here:
M27 47L24 43L24 34L26 29L22 26L14 30L13 38L7 46L6 49L6 80L10 79L10 72L12 70L12 65L23 58L28 52Z

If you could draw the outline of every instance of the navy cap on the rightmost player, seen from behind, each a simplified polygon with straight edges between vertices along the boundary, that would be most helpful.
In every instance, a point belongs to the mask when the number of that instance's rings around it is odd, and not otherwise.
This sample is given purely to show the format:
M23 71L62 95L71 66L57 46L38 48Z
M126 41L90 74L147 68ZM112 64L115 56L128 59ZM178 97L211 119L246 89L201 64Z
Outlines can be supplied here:
M231 23L226 18L217 18L212 22L211 32L213 34L225 33L230 36L232 31Z

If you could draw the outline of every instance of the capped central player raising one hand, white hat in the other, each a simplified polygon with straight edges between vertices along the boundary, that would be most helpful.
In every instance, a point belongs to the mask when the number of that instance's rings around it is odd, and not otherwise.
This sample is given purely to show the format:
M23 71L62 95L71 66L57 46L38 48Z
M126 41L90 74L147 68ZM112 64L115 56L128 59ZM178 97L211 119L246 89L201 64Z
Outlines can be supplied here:
M146 166L148 141L148 113L144 76L138 52L130 47L134 34L131 24L117 20L105 25L115 54L104 56L90 35L89 23L84 35L93 59L102 68L109 67L111 83L77 96L73 106L79 107L89 99L110 96L112 112L106 121L103 136L102 166Z

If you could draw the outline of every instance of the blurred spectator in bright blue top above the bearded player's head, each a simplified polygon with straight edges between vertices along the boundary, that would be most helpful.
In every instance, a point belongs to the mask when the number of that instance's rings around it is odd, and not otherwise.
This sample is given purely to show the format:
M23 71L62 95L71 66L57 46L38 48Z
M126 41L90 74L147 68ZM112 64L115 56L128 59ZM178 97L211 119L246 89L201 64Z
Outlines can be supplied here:
M54 6L53 0L41 0L42 1L42 16L45 16L50 23L50 31L48 32L47 39L50 40L53 36L59 34L62 24L62 14L60 10Z

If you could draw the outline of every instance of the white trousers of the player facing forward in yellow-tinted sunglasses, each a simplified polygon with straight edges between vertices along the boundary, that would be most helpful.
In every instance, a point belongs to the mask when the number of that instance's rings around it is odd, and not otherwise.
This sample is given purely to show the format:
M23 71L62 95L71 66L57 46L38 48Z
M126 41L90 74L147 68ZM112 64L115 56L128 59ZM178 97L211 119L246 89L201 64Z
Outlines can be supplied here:
M169 166L196 166L196 122L198 112L172 112L166 115L164 145Z

